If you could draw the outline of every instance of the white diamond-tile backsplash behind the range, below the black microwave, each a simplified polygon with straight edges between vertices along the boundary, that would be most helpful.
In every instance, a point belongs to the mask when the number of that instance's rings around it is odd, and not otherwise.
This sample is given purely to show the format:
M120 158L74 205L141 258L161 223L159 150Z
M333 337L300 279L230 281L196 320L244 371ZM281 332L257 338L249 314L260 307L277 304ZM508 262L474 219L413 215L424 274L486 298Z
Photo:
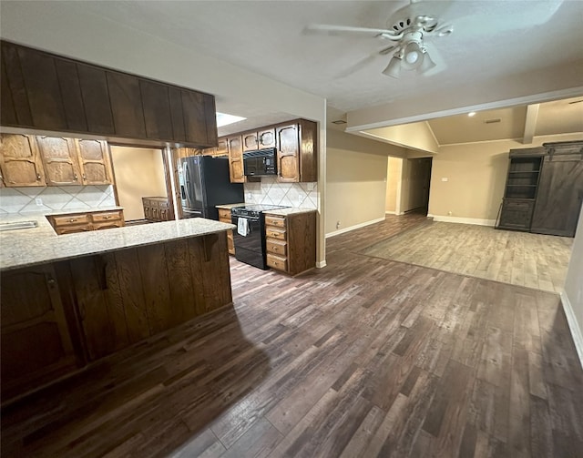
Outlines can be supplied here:
M245 183L245 202L318 209L318 183L279 183L261 177L261 183Z

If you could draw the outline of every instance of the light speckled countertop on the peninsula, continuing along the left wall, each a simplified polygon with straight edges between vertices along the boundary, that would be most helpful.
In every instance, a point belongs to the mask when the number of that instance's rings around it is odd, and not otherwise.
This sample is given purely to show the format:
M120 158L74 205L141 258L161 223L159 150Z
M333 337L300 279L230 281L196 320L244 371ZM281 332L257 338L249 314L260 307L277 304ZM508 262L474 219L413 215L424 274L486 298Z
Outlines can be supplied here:
M85 209L84 211L94 210ZM97 211L107 211L107 209L97 209ZM52 211L50 213L71 212ZM17 269L45 262L80 258L116 249L152 245L173 239L188 239L235 229L232 224L212 219L192 218L57 236L46 219L47 214L49 213L6 214L0 217L0 223L16 221L36 221L38 223L36 228L0 232L0 270Z

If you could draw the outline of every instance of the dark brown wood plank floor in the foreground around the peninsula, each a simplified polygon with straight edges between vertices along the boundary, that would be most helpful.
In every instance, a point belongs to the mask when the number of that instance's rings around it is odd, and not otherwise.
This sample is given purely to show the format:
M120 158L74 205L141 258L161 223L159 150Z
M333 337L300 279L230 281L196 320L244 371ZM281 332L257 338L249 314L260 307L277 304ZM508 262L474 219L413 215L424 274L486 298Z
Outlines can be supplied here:
M556 294L328 240L292 279L231 261L234 309L2 415L3 456L583 456L583 371Z

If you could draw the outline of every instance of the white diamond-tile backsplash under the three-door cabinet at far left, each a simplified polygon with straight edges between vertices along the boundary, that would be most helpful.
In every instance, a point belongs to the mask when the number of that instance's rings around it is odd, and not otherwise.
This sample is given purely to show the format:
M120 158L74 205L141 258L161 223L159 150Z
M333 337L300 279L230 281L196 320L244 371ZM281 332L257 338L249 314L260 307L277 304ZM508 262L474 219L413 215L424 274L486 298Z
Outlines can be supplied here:
M66 209L100 209L115 205L116 198L111 185L0 189L0 214Z

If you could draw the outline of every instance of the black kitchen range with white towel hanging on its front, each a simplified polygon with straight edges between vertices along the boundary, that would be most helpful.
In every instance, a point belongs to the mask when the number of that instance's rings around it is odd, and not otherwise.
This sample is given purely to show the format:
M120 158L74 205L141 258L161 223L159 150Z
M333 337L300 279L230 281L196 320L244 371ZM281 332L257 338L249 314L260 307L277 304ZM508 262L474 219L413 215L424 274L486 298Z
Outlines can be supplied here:
M237 226L237 229L233 230L235 258L251 266L267 270L263 212L287 208L281 205L247 204L244 207L231 209L231 222Z

